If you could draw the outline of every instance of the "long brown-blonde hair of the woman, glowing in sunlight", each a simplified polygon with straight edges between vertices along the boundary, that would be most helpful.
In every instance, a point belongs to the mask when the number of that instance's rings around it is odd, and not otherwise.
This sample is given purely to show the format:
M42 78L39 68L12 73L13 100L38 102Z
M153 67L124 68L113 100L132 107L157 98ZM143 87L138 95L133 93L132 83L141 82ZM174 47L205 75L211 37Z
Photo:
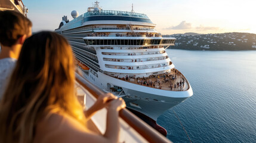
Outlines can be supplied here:
M0 104L0 142L33 142L36 123L51 111L84 125L74 85L75 64L66 39L54 32L28 38Z

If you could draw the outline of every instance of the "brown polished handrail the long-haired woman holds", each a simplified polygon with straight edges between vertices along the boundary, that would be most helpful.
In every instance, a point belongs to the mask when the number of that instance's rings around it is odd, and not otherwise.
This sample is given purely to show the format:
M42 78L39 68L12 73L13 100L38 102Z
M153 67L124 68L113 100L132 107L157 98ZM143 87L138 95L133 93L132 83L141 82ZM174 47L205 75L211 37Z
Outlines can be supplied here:
M87 91L90 92L91 95L93 95L95 98L106 94L102 89L92 85L91 82L81 77L78 73L76 73L76 81L83 88L87 89ZM141 136L143 136L143 138L149 142L171 142L161 133L143 122L143 120L139 119L137 116L128 111L126 108L119 111L119 117L121 117L125 122L128 123L129 126L135 129L138 133L140 133Z

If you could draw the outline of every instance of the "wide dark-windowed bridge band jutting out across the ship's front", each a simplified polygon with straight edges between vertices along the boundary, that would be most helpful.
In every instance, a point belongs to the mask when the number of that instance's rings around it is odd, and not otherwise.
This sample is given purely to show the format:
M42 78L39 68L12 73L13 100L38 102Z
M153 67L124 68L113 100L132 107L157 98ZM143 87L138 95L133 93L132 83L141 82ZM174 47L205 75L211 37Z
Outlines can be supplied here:
M84 39L87 45L160 45L174 44L175 39Z

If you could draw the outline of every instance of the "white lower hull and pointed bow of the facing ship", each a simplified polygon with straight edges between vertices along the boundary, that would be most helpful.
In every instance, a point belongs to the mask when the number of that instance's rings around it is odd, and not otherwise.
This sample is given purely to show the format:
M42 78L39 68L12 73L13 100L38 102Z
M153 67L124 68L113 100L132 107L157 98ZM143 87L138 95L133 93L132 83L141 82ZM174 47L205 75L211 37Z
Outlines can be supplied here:
M138 111L153 120L157 120L164 111L193 95L192 88L189 88L187 91L165 91L129 83L100 73L99 71L97 75L98 77L88 72L88 74L84 74L84 77L105 91L108 83L111 86L122 87L125 95L121 97L125 100L127 108Z

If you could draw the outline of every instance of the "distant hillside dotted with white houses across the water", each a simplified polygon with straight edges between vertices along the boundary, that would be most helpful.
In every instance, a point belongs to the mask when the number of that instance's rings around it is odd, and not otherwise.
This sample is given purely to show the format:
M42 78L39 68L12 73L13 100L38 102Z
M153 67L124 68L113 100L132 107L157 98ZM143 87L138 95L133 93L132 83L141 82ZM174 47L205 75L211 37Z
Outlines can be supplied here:
M177 35L164 35L163 37L174 37L175 46L172 49L192 49L209 51L237 51L256 50L256 35L251 33L220 33L199 35L196 33L185 33Z

